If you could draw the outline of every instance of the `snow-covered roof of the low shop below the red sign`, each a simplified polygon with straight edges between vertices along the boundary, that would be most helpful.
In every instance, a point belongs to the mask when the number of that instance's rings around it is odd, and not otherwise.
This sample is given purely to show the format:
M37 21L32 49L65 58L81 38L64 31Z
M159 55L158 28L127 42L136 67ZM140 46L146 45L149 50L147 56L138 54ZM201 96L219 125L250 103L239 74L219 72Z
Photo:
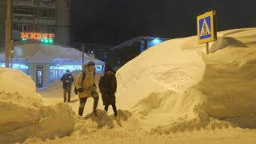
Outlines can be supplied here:
M0 54L0 62L4 62L5 54ZM15 43L14 62L28 63L82 63L82 51L73 47L46 45L38 43ZM96 58L84 54L84 62L94 61L96 64L104 64Z

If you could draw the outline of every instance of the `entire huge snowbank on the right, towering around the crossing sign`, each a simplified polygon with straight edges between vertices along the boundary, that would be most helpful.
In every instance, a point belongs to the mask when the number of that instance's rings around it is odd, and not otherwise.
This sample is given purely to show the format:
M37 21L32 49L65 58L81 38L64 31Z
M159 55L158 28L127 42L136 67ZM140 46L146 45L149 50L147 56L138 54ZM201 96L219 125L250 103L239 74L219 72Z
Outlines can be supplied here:
M158 133L215 125L255 128L255 33L218 33L218 41L210 43L217 51L208 55L197 37L146 50L118 70L120 108L132 110L139 126Z

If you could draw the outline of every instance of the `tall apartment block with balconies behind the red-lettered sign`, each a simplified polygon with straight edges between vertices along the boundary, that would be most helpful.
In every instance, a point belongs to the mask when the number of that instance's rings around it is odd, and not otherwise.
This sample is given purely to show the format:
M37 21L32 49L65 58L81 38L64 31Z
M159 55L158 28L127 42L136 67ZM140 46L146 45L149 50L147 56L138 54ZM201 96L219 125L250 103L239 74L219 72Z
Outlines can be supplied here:
M0 48L5 50L6 1L0 5ZM54 43L70 45L70 0L12 0L12 38L21 32L54 34Z

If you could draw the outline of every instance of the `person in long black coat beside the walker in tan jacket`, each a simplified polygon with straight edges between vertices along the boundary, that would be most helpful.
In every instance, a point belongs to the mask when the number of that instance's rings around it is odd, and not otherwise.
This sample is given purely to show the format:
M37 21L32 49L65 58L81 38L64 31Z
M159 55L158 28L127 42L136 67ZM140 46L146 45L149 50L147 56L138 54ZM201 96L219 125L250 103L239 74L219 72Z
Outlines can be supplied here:
M98 82L99 90L102 93L102 101L107 111L111 105L114 110L114 116L118 116L117 107L115 106L115 92L117 91L117 79L115 77L115 71L110 65L106 65L104 75Z

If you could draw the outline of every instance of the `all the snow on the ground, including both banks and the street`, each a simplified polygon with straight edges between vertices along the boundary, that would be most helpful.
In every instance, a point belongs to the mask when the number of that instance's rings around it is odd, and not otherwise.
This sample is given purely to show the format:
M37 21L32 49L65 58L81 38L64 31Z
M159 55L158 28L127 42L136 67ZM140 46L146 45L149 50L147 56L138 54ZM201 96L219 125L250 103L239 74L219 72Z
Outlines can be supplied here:
M80 117L59 79L36 89L1 67L0 143L256 143L256 28L218 32L210 54L197 36L162 42L116 77L118 117L102 98L98 117L93 98Z

